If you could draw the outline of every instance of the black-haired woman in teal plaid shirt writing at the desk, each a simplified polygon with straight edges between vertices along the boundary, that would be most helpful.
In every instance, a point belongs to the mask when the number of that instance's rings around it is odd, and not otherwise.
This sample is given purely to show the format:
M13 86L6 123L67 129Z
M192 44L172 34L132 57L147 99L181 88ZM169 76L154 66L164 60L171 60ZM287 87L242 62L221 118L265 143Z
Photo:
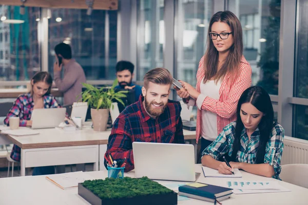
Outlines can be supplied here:
M202 165L232 174L233 169L279 179L284 130L274 121L268 93L259 86L243 92L237 106L237 120L227 125L202 153ZM226 162L218 161L225 157Z

